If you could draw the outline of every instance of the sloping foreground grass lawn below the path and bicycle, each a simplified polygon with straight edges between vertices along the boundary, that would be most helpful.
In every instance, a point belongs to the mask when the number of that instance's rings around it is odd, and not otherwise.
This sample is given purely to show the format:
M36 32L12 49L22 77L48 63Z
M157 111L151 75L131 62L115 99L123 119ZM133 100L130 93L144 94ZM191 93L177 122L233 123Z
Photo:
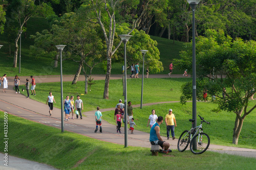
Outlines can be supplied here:
M4 113L0 112L3 127ZM63 132L24 118L8 115L8 155L59 169L254 169L255 158L206 151L194 155L173 150L151 156L150 149L127 147L83 135ZM3 133L4 128L0 128ZM1 139L1 152L5 148ZM234 163L235 162L235 163ZM197 165L197 166L196 166Z

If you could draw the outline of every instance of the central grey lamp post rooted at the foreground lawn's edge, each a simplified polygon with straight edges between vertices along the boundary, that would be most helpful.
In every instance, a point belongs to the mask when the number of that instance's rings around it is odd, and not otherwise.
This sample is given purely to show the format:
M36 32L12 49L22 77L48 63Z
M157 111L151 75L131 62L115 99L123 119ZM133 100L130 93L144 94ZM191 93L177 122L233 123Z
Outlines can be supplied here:
M132 37L132 35L118 35L124 44L124 148L127 148L127 83L126 83L126 43Z

